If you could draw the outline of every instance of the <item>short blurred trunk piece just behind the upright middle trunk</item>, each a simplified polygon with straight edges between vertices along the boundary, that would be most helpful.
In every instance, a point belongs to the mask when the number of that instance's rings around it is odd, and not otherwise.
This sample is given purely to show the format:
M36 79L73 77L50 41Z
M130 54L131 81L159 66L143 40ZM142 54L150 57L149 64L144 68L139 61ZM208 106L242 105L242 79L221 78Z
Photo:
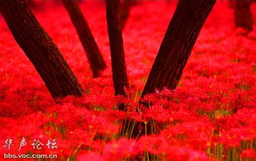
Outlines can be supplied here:
M127 19L130 16L130 10L133 5L136 5L136 2L137 0L124 0L121 3L120 24L122 30L124 29Z

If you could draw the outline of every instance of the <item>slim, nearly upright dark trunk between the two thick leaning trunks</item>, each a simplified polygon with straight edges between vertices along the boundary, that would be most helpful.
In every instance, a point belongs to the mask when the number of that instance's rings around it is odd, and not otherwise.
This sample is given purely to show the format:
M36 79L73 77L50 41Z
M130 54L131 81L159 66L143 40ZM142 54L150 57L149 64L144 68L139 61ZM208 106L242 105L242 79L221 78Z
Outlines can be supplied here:
M119 0L106 0L107 30L109 32L114 93L116 95L125 95L124 87L128 88L129 82L126 73L122 30L119 24L119 11Z

